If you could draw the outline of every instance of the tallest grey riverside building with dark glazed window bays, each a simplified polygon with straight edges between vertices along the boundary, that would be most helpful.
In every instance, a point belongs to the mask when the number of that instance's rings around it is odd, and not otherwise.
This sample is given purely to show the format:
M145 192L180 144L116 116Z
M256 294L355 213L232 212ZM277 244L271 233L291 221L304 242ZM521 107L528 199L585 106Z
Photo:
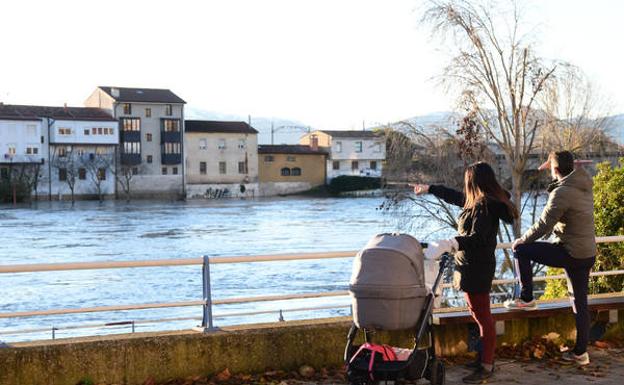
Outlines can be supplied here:
M184 104L167 89L98 87L85 105L111 111L119 121L117 193L182 197ZM124 190L124 191L120 191Z

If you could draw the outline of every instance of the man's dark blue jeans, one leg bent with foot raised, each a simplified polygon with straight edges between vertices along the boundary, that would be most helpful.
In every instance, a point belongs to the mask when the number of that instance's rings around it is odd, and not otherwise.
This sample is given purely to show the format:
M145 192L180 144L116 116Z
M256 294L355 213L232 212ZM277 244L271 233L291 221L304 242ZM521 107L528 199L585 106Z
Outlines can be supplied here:
M514 257L518 260L520 268L520 282L522 283L520 298L524 301L533 300L532 261L550 267L565 269L570 283L572 284L574 307L576 310L576 346L574 348L574 353L585 353L589 342L589 308L587 305L589 272L592 266L594 266L596 258L573 258L563 246L550 242L534 242L518 245L514 252Z

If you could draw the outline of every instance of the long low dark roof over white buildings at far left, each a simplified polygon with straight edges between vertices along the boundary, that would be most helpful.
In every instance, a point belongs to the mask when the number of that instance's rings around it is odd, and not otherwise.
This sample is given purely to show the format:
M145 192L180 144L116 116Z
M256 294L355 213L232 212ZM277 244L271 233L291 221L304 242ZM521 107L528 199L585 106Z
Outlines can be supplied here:
M0 119L38 120L52 118L56 120L93 120L116 121L110 112L94 107L56 107L0 104Z

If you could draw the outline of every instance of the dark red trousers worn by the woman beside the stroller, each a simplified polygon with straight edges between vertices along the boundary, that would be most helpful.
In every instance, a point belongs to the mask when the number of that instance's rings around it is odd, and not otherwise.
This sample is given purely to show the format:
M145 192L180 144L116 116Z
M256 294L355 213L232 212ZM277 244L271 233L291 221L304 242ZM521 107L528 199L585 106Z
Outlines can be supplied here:
M494 349L496 349L496 328L494 317L490 311L490 293L465 293L466 302L472 318L479 325L483 354L481 362L494 363Z

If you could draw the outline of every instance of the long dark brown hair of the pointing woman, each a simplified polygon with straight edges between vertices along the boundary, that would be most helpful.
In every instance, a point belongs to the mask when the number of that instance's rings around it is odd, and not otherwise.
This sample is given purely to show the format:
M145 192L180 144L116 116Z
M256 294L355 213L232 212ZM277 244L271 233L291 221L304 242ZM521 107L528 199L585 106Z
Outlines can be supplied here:
M496 180L492 167L485 162L473 163L464 173L466 203L464 209L472 210L485 199L499 201L505 206L512 218L518 218L518 209L509 199L509 193Z

